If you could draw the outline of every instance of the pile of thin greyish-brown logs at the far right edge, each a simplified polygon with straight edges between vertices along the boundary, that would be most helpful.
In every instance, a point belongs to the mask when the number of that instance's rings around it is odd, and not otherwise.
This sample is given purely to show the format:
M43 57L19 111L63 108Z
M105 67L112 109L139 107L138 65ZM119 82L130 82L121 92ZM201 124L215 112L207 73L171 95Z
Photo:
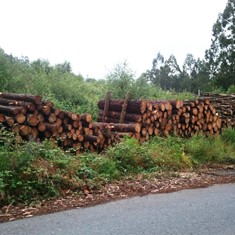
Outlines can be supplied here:
M235 94L204 93L203 98L216 108L222 120L222 128L235 127Z

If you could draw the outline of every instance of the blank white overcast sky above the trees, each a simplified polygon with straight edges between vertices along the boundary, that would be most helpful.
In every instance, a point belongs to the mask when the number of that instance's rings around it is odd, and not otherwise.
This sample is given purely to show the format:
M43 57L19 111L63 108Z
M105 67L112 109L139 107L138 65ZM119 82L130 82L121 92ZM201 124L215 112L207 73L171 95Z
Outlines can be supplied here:
M104 78L125 60L138 76L158 52L203 58L227 0L0 0L0 47L13 56L69 61Z

